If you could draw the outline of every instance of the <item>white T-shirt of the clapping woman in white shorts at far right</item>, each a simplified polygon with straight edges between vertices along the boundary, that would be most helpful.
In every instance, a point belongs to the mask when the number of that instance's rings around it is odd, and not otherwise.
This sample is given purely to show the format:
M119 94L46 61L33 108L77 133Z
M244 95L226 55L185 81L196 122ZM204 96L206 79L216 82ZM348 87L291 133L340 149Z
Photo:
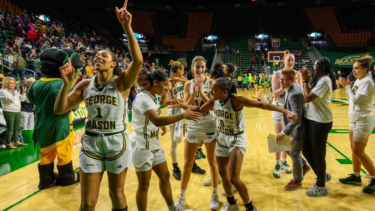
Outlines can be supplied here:
M355 122L365 122L374 116L374 82L371 77L357 79L352 87L355 95L365 95L358 104L349 103L349 118Z

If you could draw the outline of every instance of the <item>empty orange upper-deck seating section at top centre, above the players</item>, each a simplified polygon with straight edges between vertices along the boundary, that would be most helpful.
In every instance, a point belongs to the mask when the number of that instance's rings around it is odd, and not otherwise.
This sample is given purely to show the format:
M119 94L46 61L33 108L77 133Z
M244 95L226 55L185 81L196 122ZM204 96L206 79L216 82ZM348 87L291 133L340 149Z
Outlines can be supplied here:
M196 41L211 29L212 12L184 12L182 15L188 16L186 38L179 38L177 35L163 36L163 44L171 51L193 51Z

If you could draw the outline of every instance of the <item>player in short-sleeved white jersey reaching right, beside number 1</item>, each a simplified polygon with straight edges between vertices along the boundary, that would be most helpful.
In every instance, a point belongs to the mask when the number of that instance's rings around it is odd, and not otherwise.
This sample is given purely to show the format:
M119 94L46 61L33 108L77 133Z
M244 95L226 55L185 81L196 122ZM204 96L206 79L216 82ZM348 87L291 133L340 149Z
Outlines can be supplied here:
M187 109L185 112L172 116L160 116L157 94L163 95L169 84L168 75L160 69L148 73L148 69L143 68L139 72L136 84L145 88L139 92L133 102L132 127L134 131L130 136L133 149L133 165L138 178L136 192L138 210L147 210L147 192L150 186L151 170L159 178L160 193L168 205L168 210L184 210L181 206L176 207L173 203L169 171L159 140L159 127L163 131L163 136L166 133L165 125L173 124L184 118L197 121L201 119L202 115Z

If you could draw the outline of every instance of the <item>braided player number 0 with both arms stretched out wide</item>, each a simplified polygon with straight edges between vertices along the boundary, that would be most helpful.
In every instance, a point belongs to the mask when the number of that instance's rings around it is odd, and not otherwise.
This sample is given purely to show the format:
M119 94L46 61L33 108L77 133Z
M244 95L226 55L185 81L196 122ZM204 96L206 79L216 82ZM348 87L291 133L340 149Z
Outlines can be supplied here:
M236 92L236 86L228 78L217 78L211 84L210 99L202 106L192 107L192 109L205 113L213 106L215 107L217 130L220 132L217 138L216 158L227 198L222 211L239 210L237 200L233 196L232 184L237 188L246 210L257 210L252 205L246 185L240 180L243 156L247 149L243 107L276 110L287 115L292 121L297 120L297 115L276 105L238 96ZM168 101L166 104L173 107L189 107L177 100Z

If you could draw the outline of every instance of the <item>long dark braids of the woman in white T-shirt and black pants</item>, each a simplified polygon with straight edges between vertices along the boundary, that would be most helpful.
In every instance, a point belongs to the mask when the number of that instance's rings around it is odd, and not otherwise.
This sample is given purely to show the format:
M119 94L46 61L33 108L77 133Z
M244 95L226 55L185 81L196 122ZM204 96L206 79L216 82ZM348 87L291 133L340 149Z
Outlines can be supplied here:
M321 57L317 60L315 68L315 75L312 78L310 90L312 90L318 83L319 79L324 75L328 75L332 81L332 91L337 89L335 77L333 77L333 65L330 59L327 57Z

